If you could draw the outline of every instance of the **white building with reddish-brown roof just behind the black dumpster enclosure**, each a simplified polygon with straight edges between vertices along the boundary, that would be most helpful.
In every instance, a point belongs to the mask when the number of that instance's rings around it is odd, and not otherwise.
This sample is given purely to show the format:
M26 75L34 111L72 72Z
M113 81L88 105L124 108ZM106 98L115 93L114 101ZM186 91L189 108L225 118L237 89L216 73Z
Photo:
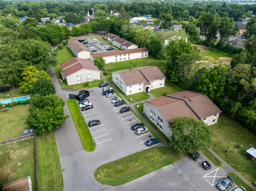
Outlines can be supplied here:
M100 80L100 69L91 60L71 58L60 66L62 78L68 85Z

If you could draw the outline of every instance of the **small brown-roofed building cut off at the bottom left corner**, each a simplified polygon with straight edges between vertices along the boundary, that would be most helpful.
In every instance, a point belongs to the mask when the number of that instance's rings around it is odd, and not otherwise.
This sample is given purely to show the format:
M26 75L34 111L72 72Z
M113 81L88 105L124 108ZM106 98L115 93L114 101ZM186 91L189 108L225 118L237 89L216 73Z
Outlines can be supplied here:
M32 191L30 176L4 184L2 191Z

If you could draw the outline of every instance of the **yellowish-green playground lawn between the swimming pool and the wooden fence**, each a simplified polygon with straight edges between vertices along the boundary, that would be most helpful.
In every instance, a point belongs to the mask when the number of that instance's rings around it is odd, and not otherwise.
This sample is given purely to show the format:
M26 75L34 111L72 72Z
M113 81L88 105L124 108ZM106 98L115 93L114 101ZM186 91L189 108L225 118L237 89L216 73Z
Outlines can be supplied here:
M29 115L29 106L30 104L14 106L5 113L0 111L0 140L22 136L22 131L29 128L28 125L24 124ZM9 120L12 122L9 123Z

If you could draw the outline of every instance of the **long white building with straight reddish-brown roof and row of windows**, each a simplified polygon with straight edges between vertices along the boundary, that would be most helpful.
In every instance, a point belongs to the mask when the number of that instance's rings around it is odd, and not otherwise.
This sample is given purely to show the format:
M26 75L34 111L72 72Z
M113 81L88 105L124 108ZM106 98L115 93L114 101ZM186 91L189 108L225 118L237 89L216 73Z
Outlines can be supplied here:
M93 62L96 56L100 56L104 58L106 63L111 62L121 62L124 60L133 60L138 58L147 58L148 57L148 49L147 48L135 48L121 51L110 51L106 53L96 53L91 54L90 59Z

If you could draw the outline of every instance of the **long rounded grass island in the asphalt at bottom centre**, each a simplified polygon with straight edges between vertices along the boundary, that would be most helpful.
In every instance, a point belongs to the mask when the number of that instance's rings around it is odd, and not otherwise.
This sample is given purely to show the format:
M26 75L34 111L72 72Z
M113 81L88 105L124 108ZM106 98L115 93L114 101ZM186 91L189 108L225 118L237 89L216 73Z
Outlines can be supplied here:
M94 176L101 184L119 186L173 164L184 156L171 147L151 147L98 167Z

